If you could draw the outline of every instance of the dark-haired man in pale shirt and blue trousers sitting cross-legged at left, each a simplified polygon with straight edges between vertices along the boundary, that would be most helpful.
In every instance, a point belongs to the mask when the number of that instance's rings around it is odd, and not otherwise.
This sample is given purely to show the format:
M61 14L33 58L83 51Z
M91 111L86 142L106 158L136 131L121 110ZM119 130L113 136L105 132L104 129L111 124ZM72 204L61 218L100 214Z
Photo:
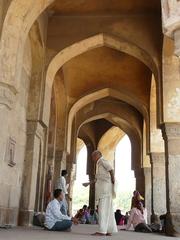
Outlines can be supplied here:
M61 189L54 191L54 200L52 200L46 209L45 227L51 231L65 231L71 228L72 222L78 223L76 218L71 218L63 215L60 211L61 201L63 201L64 194Z

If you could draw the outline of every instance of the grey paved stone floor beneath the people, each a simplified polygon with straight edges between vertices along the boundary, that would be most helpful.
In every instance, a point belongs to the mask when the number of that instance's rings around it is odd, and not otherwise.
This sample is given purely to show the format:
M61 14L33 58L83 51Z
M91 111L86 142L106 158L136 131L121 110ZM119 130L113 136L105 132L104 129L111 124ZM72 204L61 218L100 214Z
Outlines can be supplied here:
M111 237L95 237L90 234L96 231L96 226L74 226L72 232L49 232L40 228L12 228L0 229L0 240L172 240L180 238L166 237L158 234L135 233L133 231L119 231Z

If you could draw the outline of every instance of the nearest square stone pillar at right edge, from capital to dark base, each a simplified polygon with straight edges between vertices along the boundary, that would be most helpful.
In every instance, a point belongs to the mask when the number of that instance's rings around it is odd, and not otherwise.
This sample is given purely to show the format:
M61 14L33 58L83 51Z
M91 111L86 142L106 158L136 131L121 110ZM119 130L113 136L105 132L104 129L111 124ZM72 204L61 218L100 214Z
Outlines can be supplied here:
M162 126L166 157L166 231L170 236L180 236L180 123Z

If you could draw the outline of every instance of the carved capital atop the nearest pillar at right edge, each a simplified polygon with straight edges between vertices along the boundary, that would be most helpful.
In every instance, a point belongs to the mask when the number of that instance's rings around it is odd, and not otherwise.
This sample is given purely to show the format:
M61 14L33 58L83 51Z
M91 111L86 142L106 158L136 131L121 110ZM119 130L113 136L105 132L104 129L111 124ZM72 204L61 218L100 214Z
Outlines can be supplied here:
M180 122L162 124L164 140L180 139Z

